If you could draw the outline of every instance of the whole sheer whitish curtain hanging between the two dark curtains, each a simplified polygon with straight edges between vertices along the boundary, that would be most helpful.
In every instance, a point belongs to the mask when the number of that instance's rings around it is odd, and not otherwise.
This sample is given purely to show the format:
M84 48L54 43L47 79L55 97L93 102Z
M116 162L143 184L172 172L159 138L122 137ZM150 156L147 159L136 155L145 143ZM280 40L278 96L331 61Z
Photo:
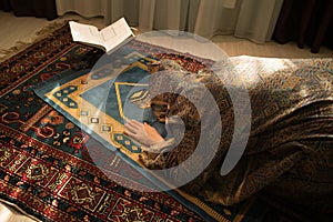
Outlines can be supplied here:
M57 0L57 9L58 13L72 10L85 17L89 9L91 14L103 16L105 24L124 17L130 26L143 31L182 30L208 39L234 34L264 42L272 37L282 3L283 0Z

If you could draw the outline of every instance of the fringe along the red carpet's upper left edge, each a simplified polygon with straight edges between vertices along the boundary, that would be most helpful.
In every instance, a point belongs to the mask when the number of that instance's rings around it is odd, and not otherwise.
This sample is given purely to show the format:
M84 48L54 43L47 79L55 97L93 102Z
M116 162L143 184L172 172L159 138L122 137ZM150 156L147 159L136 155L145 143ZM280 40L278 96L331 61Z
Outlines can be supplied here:
M33 38L32 41L30 42L23 42L23 41L18 41L16 44L9 49L0 49L0 62L6 61L7 59L11 58L12 56L23 51L27 49L29 46L48 38L52 36L52 33L67 24L70 20L63 20L63 21L56 21L53 23L49 23L46 27L43 27L41 30L36 32L36 38Z

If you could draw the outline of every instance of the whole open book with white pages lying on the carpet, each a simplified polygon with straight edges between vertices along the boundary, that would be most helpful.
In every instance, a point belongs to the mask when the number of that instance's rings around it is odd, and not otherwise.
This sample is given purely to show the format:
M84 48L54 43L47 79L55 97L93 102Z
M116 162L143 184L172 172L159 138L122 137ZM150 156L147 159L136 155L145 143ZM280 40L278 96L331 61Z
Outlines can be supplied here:
M99 30L94 26L82 24L70 21L70 29L73 41L92 44L110 52L125 40L134 37L131 28L124 18L119 19L114 23Z

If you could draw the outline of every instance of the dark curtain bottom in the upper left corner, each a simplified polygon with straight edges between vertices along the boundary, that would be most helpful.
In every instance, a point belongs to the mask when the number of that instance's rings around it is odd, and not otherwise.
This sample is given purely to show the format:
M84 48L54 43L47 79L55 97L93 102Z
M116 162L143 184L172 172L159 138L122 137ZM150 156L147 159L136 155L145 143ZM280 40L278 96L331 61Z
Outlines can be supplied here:
M58 18L56 0L1 0L0 9L17 17Z

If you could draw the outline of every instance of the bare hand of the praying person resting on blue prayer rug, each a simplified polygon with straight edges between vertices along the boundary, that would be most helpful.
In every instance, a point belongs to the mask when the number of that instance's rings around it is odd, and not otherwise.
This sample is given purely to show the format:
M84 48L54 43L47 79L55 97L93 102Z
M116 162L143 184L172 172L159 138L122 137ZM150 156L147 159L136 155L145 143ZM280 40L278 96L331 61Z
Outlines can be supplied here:
M151 147L164 141L160 133L145 122L141 123L137 120L129 120L124 127L127 128L124 134L137 140L143 145Z

